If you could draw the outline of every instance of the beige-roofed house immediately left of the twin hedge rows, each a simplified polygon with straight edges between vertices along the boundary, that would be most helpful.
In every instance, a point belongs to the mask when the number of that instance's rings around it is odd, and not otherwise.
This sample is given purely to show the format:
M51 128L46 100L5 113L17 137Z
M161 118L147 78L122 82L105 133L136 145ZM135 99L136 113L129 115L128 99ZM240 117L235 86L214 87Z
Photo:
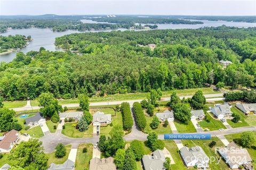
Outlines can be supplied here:
M111 123L111 114L104 114L103 112L97 111L92 117L93 126Z

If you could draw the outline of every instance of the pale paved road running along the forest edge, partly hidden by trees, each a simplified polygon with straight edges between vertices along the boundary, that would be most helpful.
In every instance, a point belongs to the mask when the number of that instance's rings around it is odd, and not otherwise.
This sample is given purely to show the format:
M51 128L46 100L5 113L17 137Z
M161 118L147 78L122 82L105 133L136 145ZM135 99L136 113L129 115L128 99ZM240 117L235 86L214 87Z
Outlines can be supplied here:
M218 101L218 100L223 100L223 94L209 94L209 95L204 95L206 98L206 101ZM181 96L180 98L182 99L183 97L185 98L191 98L192 96ZM210 97L210 98L209 98ZM123 102L128 102L130 105L132 105L134 102L140 102L142 99L138 100L126 100L126 101L101 101L101 102L95 102L95 103L90 103L90 106L106 106L106 105L121 105ZM168 101L170 100L170 97L164 97L161 98L161 101ZM28 103L29 102L29 103ZM19 107L19 108L12 108L16 112L20 111L32 111L32 110L38 110L40 107L39 106L30 106L30 101L28 100L27 105L25 107ZM79 107L79 104L65 104L62 105L62 107Z

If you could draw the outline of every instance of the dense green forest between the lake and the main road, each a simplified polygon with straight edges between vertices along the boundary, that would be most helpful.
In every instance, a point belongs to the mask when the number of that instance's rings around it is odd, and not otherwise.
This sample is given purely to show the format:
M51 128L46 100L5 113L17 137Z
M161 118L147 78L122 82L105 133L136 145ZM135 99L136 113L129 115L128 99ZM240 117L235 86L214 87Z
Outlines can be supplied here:
M57 38L55 44L81 54L41 48L1 63L0 94L18 100L34 99L42 92L70 98L218 82L232 88L255 87L255 36L256 28L229 27L74 33ZM225 68L219 60L233 64Z

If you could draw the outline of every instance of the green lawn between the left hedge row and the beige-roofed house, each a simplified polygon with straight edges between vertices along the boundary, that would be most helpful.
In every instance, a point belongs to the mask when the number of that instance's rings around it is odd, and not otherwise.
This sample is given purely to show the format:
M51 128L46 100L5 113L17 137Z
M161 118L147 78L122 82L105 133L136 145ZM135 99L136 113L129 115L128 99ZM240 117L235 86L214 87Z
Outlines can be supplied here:
M111 109L113 111L113 109ZM105 112L106 113L106 112ZM110 113L109 113L110 114ZM111 129L115 126L115 125L120 125L121 127L123 127L123 120L122 120L122 114L121 112L116 112L116 116L112 116L112 124L113 126L102 126L100 127L100 134L104 134L106 136L109 136L109 132L111 131Z

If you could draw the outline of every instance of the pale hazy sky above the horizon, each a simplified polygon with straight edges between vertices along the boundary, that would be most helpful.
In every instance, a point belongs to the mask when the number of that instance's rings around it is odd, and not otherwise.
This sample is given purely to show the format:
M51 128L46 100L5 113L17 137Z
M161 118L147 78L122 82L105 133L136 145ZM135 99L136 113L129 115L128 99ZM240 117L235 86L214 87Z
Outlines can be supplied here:
M256 0L0 0L0 15L256 15Z

